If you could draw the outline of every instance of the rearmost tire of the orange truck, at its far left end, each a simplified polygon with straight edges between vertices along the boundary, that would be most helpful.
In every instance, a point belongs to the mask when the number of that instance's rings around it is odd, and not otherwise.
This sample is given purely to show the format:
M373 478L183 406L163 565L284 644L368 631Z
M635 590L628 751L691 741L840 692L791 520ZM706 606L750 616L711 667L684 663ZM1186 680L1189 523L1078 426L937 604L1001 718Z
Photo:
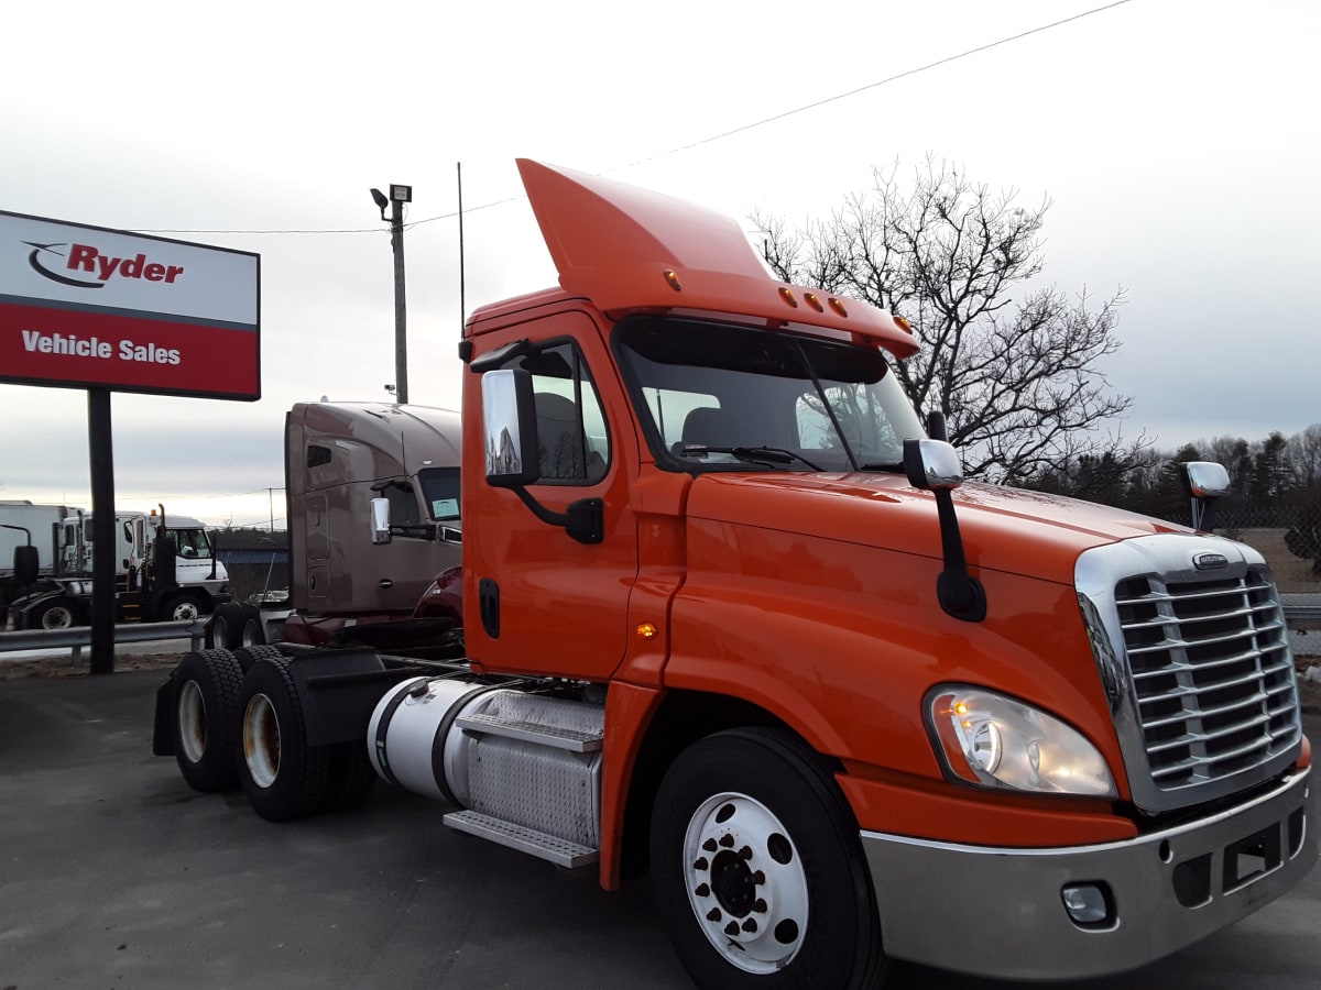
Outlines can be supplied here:
M194 791L239 784L234 737L239 729L243 671L226 649L185 653L174 672L174 759Z

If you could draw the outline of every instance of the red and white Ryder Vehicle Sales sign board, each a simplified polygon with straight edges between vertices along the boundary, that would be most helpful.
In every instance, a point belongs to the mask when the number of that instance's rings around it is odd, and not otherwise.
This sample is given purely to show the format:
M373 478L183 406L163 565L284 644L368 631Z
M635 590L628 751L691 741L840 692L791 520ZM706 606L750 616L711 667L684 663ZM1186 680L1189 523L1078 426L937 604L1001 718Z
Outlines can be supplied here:
M0 381L260 399L246 251L0 211Z

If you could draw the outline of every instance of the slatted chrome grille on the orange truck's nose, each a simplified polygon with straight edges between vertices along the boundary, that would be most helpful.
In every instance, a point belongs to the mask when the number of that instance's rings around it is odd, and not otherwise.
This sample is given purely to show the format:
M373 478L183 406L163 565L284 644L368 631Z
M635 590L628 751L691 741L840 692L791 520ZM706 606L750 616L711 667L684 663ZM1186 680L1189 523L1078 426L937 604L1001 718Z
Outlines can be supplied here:
M1129 578L1115 605L1157 789L1222 780L1299 742L1293 660L1268 576Z

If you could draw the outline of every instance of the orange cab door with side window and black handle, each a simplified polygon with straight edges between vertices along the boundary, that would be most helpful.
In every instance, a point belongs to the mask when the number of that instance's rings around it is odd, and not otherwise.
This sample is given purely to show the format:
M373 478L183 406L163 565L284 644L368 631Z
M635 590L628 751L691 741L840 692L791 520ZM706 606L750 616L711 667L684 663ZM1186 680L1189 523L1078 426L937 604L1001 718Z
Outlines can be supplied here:
M601 499L604 537L579 543L563 525L538 519L518 492L486 484L480 469L466 470L464 636L470 656L490 671L605 680L624 657L638 573L629 504L637 447L622 442L631 436L627 407L594 322L564 313L539 321L538 330L543 326L548 339L503 366L532 379L540 477L526 494L555 513L579 499ZM482 442L481 426L465 437L472 442Z

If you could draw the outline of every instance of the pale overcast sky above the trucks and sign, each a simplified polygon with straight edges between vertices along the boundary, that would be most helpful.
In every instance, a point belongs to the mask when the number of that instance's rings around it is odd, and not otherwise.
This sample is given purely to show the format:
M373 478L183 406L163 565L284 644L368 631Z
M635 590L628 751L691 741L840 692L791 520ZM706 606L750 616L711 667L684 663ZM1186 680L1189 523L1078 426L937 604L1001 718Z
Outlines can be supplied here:
M1024 205L1053 202L1046 276L1061 289L1123 288L1123 350L1104 370L1135 399L1115 424L1125 437L1288 436L1321 422L1318 12L11 4L0 210L262 255L262 400L115 395L119 508L283 525L285 409L388 399L392 259L371 186L413 186L410 399L458 408L456 162L468 310L555 284L515 157L750 230L754 210L824 215L873 166L897 160L902 176L931 153ZM86 392L0 384L0 499L89 506Z

